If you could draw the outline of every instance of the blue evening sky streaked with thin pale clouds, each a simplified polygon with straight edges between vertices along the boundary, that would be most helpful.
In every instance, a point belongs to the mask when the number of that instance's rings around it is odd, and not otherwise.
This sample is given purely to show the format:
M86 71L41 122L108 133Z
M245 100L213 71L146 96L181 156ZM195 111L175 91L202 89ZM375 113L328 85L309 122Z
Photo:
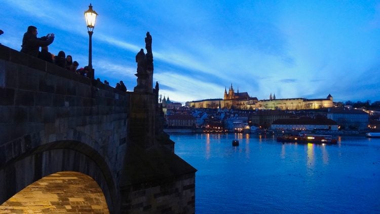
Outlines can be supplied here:
M231 84L258 99L380 100L380 1L2 0L0 43L20 50L34 25L84 67L90 3L95 78L111 86L133 91L149 31L154 84L172 101L223 98Z

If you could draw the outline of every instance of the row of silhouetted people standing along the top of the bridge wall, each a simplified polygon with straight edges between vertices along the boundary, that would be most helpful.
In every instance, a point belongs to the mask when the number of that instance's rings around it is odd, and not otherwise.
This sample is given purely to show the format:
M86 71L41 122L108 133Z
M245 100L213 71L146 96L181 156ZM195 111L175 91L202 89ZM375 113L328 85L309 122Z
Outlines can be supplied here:
M3 31L1 31L3 33ZM84 66L78 69L79 63L72 60L71 55L65 54L64 51L59 51L58 55L54 55L49 52L49 45L54 41L54 33L48 33L46 36L37 38L37 28L35 26L28 26L27 31L22 38L21 52L38 57L47 62L54 63L60 67L70 70L73 73L80 74L88 78L91 75L91 69L88 66ZM41 51L40 51L41 47ZM97 81L101 82L98 78ZM104 80L103 84L109 85L109 82ZM116 89L121 91L127 91L127 87L123 81L116 84Z

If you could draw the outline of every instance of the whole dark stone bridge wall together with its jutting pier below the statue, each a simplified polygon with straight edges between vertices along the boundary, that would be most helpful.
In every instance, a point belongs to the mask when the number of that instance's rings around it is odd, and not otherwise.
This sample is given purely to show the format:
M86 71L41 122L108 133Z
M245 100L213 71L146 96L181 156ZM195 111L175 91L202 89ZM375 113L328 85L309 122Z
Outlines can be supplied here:
M78 171L110 213L195 212L196 169L173 153L156 98L0 45L0 204L44 176Z

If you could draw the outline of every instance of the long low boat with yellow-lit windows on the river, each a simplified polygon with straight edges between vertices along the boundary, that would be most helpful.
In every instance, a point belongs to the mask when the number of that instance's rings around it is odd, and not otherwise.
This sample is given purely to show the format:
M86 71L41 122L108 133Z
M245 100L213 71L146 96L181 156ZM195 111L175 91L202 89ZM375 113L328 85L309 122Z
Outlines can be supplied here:
M319 134L302 134L290 135L284 134L277 137L277 142L301 142L313 144L336 144L337 140L332 138L332 135L319 135Z

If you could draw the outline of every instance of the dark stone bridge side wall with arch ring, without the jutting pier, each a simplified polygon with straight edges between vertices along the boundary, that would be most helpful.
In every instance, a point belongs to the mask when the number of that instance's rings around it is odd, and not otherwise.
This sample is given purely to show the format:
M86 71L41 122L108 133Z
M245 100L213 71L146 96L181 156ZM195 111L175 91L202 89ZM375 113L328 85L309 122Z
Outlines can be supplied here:
M74 170L97 181L110 210L119 206L129 99L0 45L0 204L46 175Z

